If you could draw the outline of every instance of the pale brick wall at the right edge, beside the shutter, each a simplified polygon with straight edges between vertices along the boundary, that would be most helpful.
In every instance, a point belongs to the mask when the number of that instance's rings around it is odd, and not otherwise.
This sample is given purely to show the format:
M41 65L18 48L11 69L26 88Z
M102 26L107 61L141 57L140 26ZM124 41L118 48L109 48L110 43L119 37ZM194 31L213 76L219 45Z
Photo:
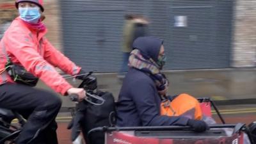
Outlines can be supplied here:
M237 0L233 67L255 67L256 1Z

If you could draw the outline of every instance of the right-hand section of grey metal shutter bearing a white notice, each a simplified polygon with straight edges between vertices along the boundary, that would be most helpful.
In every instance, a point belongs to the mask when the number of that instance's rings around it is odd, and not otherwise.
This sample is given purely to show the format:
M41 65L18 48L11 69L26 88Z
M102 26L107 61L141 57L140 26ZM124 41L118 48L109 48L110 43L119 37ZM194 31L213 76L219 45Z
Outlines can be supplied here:
M177 26L185 17L186 26ZM168 68L227 68L231 60L232 1L172 1Z

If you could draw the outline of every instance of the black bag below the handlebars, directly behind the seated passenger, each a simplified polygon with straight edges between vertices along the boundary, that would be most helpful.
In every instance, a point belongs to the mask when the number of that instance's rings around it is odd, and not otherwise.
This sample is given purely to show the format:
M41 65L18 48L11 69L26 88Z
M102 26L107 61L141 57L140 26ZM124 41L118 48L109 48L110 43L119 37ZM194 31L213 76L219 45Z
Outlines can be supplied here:
M88 97L77 104L77 112L72 122L72 141L76 140L82 131L86 144L104 144L104 132L93 132L88 136L88 131L95 127L115 125L116 108L113 94L109 92L96 94L101 99Z

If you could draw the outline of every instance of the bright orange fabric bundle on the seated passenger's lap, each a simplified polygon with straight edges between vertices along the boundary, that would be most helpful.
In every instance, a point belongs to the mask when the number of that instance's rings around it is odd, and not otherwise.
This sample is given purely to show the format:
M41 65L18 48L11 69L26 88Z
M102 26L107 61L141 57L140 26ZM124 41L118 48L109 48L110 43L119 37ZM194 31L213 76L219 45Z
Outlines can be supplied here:
M161 115L166 116L186 116L195 120L202 119L202 110L200 103L195 97L182 93L175 97L172 102L169 99L164 99L161 102Z

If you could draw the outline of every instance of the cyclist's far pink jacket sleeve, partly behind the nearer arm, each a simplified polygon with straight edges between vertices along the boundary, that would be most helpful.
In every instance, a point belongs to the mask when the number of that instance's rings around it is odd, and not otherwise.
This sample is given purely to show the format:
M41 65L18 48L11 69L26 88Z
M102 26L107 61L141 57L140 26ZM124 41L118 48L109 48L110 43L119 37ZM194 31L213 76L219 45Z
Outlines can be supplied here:
M81 70L81 67L77 67L72 61L64 56L60 51L55 49L53 45L44 38L44 58L54 67L60 68L63 72L70 75L76 75Z

